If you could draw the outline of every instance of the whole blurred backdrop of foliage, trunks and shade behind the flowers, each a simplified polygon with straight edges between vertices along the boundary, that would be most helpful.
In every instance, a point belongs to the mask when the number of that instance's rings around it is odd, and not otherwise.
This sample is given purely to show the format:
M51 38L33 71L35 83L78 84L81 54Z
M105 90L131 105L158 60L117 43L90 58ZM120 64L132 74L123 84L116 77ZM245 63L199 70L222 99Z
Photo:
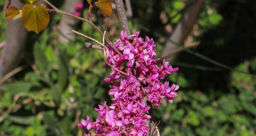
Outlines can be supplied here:
M50 1L63 11L87 15L86 0ZM77 3L84 7L75 8ZM256 1L124 3L132 33L154 38L157 57L180 68L165 79L180 85L179 96L154 108L160 135L255 136ZM18 0L12 5L22 7ZM96 7L91 20L114 42L121 27L112 5L111 17ZM3 6L0 0L1 11ZM95 120L94 107L111 103L103 80L110 68L103 66L102 52L85 48L89 40L69 30L100 41L101 35L85 22L50 16L47 29L37 35L20 19L8 21L0 13L1 136L82 136L85 131L76 124L86 115Z

